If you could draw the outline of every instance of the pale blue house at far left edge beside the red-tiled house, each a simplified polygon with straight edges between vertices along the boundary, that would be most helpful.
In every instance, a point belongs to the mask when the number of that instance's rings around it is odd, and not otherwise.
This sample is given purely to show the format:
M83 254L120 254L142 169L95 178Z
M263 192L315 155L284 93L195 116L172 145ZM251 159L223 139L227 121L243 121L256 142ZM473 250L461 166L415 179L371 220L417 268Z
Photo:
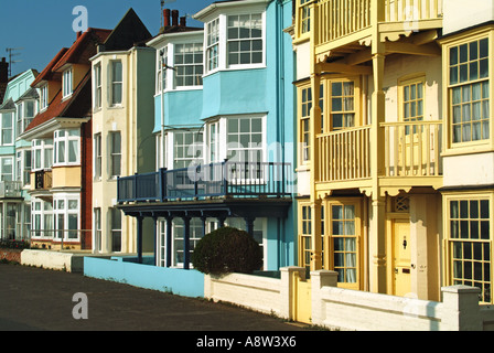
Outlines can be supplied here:
M35 69L10 78L0 104L0 238L29 239L31 229L31 143L19 136L37 111Z

